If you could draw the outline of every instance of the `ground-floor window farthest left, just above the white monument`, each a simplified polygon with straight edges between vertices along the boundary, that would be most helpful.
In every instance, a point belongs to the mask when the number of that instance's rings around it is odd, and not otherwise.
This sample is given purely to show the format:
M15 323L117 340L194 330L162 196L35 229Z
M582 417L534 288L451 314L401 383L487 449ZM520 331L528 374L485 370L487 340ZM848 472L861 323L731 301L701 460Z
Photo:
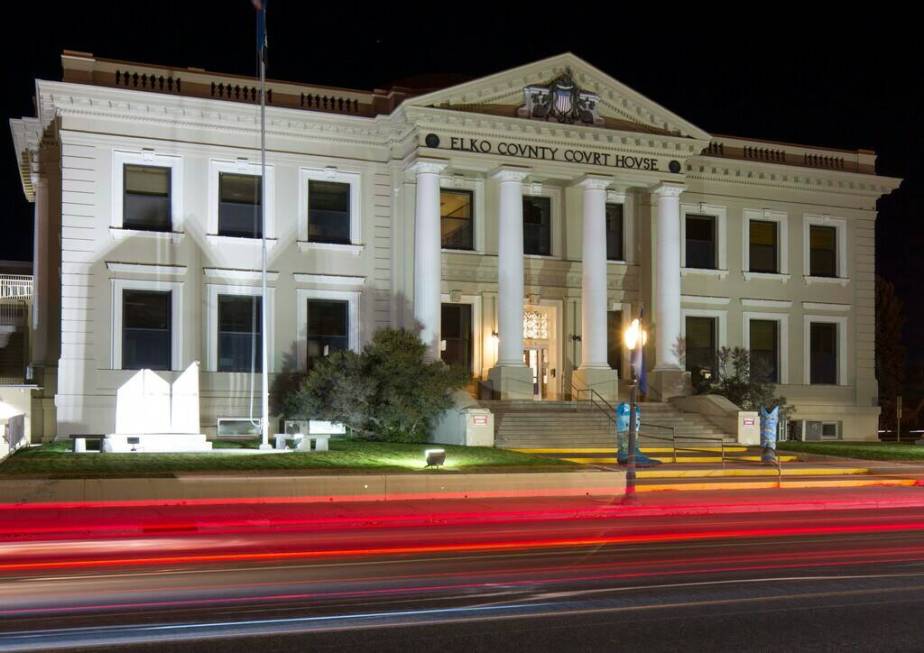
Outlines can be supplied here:
M172 363L170 291L122 291L122 369L169 370Z

